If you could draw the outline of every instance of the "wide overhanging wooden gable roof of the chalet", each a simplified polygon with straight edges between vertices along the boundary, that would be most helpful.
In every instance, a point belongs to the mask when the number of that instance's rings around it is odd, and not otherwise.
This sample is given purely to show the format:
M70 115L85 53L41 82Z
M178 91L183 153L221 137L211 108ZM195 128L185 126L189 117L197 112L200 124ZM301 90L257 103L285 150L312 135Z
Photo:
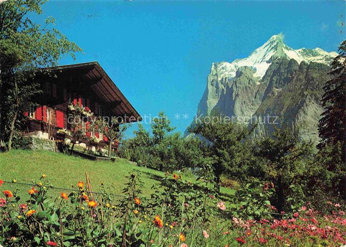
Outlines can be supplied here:
M128 99L114 84L104 69L97 61L62 65L46 68L54 72L73 72L83 76L84 80L90 82L91 89L110 107L115 116L126 116L126 122L141 121L142 117L134 109Z

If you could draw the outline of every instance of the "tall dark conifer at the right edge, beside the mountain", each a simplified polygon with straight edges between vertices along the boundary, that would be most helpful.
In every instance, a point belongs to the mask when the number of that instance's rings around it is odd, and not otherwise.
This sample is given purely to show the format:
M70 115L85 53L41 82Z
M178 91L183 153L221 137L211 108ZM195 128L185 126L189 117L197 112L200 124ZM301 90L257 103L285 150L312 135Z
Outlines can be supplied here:
M346 140L346 41L339 47L339 55L334 58L330 74L333 79L326 82L323 87L325 93L322 105L325 111L319 121L319 135L322 139L318 148L326 144L337 144L343 146L345 155ZM345 159L345 157L344 157Z

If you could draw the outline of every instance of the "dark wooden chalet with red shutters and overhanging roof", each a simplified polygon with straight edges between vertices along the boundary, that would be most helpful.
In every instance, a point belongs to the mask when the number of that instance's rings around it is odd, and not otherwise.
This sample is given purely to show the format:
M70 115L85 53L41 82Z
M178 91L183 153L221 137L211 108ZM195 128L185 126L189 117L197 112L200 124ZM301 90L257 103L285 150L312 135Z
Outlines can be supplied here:
M58 139L59 129L69 129L68 106L84 107L96 116L121 117L125 123L141 121L141 116L113 83L98 62L87 62L46 68L49 73L35 77L43 93L25 113L25 132L36 133L40 138ZM104 149L107 137L87 130L84 123L85 140L80 146L92 145ZM95 145L96 143L96 145ZM114 145L114 144L113 144Z

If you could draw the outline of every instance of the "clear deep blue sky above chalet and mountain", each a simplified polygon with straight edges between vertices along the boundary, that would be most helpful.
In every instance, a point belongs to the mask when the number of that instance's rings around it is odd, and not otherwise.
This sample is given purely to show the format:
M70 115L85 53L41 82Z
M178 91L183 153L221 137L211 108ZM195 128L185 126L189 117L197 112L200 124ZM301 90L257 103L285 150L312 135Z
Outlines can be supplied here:
M164 110L183 132L212 62L246 57L280 32L294 49L336 51L345 7L342 0L50 0L40 19L55 17L56 28L84 49L61 65L97 60L141 115Z

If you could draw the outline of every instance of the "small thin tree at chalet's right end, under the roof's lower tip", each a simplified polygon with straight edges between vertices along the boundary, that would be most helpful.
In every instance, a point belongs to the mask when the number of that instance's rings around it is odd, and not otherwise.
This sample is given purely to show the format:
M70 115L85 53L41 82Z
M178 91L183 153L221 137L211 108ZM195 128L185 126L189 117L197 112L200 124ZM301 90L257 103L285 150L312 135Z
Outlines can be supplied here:
M97 129L98 132L105 135L108 139L108 156L112 156L112 144L115 140L121 141L123 139L125 131L127 130L127 125L118 123L116 117L108 118L97 117L93 122L93 129Z

